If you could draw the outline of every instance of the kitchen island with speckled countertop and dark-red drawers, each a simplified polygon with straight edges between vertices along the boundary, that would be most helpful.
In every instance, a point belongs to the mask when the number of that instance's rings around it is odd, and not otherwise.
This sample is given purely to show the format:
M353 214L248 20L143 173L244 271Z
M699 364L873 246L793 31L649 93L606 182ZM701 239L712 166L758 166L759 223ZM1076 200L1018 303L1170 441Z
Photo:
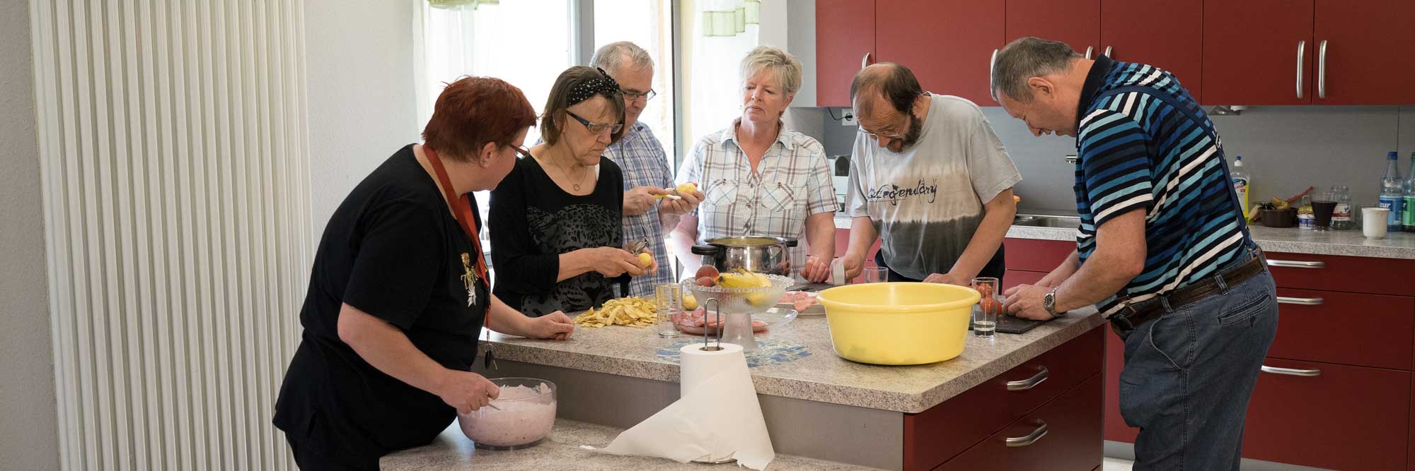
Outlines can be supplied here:
M853 467L932 470L969 455L990 457L998 465L989 468L1012 468L996 448L1017 450L1023 460L1017 463L1032 463L1049 454L1054 458L1053 447L1075 450L1077 443L1084 443L1082 460L1099 465L1102 324L1094 309L1078 310L1024 334L969 334L964 353L949 361L882 367L841 358L832 351L825 316L801 316L758 336L775 345L802 347L795 360L763 361L750 371L782 468L804 457ZM621 326L577 329L569 341L492 334L498 369L478 372L555 381L558 416L570 422L560 422L550 443L603 447L613 434L576 440L569 433L577 429L570 426L627 429L678 400L678 365L659 351L686 338L658 338L654 329ZM1091 409L1094 413L1084 412ZM1047 436L1044 422L1033 417L1047 410L1082 412L1082 417L1071 417L1078 430L1067 433L1068 423L1053 420ZM1036 443L1030 450L1007 440L1029 436ZM454 439L466 441L449 429L437 443L385 457L382 465L396 470L415 455L430 460L429 453L447 460L470 457L466 463L480 465L480 460L502 463L498 460L518 453L470 454L466 443L456 446Z

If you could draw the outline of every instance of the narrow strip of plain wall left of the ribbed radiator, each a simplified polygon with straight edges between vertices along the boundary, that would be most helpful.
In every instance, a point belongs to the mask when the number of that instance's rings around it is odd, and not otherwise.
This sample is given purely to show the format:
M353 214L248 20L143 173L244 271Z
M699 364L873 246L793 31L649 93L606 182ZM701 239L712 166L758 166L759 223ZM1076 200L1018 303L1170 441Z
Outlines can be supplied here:
M0 468L59 467L28 1L0 1Z

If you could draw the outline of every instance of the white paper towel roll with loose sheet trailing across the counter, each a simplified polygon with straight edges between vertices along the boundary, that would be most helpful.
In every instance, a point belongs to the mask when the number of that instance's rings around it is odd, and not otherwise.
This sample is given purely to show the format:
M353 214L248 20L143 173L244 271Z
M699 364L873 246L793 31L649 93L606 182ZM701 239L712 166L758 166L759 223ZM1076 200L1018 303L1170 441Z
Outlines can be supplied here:
M678 402L624 430L599 451L678 463L737 458L739 465L766 470L777 454L741 345L722 344L720 351L702 347L688 344L679 350Z

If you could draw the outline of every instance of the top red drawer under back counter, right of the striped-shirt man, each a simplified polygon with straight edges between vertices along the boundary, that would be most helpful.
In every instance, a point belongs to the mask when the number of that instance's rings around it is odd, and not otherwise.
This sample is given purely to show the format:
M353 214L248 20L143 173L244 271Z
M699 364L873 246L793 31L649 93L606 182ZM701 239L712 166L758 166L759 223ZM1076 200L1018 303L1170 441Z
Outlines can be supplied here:
M1268 252L1278 288L1415 296L1415 259Z

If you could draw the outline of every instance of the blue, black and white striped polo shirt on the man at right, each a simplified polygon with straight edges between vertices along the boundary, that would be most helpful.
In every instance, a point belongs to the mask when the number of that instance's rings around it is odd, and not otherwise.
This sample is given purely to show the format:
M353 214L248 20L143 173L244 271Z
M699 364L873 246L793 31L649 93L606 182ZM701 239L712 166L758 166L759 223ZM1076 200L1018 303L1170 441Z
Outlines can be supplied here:
M1173 75L1102 55L1087 75L1078 110L1081 262L1095 252L1098 226L1145 210L1145 271L1116 293L1121 299L1098 303L1102 313L1121 310L1124 296L1132 303L1152 299L1241 259L1248 236L1231 196L1223 142Z

